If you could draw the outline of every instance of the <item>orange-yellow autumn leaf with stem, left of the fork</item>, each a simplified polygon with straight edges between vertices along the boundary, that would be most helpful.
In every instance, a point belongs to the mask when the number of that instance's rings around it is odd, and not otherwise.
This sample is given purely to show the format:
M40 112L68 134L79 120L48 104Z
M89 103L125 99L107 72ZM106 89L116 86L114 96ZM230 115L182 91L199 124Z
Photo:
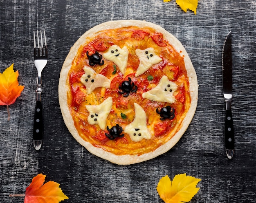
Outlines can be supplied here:
M19 72L14 72L13 64L3 73L0 73L0 105L6 105L8 120L10 119L9 105L13 104L20 96L24 86L18 83Z

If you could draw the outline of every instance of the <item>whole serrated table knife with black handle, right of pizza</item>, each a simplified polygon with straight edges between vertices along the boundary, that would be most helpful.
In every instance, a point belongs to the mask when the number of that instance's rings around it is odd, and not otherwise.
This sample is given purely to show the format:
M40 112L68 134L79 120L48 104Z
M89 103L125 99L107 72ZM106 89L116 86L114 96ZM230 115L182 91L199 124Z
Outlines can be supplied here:
M226 117L225 117L225 150L228 159L234 156L235 139L234 126L231 113L232 102L232 55L231 55L231 31L227 35L222 49L222 84L223 95L226 102Z

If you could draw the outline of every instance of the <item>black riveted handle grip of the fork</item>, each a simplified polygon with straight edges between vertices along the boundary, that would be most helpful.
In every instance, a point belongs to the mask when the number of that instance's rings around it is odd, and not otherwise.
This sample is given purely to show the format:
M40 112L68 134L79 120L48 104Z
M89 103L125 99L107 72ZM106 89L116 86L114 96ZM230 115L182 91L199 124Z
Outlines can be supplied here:
M34 116L33 140L43 139L43 108L42 101L36 101Z

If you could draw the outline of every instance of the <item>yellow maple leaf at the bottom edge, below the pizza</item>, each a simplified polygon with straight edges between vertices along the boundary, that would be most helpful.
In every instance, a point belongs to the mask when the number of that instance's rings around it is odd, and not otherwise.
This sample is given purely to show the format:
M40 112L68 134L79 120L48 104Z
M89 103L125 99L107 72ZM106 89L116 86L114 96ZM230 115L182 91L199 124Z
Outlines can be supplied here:
M184 174L175 175L173 181L166 175L160 179L157 185L157 192L166 203L189 202L200 188L196 185L201 179Z

